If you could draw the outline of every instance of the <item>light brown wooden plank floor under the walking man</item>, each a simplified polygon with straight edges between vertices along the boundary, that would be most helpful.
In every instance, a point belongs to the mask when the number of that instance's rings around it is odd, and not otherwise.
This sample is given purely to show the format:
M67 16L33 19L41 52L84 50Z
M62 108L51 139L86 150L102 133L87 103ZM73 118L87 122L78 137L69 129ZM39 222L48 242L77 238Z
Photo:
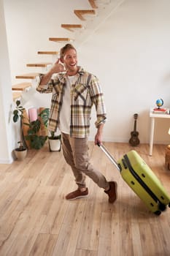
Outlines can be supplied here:
M131 146L105 143L119 159ZM149 146L136 151L150 165L170 193L165 147ZM108 180L116 180L114 205L87 178L90 195L67 201L76 189L72 171L62 152L49 152L46 145L30 150L23 162L0 165L0 255L1 256L168 256L170 255L170 208L155 216L125 184L117 169L97 146L90 143L93 165Z

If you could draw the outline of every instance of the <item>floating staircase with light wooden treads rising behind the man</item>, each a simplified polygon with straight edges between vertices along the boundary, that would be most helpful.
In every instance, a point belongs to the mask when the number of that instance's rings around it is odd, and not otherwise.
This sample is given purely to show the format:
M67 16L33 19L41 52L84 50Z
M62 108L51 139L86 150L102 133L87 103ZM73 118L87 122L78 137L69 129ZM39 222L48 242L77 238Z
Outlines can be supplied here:
M106 3L112 1L112 0L87 0L90 4L90 7L92 9L90 10L74 10L74 15L77 16L82 22L86 22L88 20L88 17L90 18L96 18L96 10L98 10L99 4ZM122 0L123 1L123 0ZM85 24L77 23L77 24L61 24L61 28L67 29L68 31L76 32L76 31L85 31ZM58 43L72 43L76 39L71 39L69 37L49 37L49 41L52 42L58 42ZM51 51L51 50L39 50L37 54L41 55L49 55L52 56L53 61L52 62L40 62L40 63L28 63L26 64L26 67L28 68L42 68L42 73L47 72L47 69L55 63L55 61L58 59L59 50L57 51ZM31 82L23 82L18 83L12 86L13 91L13 100L18 99L18 97L22 97L22 91L26 91L31 86L36 85L36 77L39 76L39 72L33 72L33 73L27 73L23 75L16 75L15 78L17 79L26 79L31 80Z

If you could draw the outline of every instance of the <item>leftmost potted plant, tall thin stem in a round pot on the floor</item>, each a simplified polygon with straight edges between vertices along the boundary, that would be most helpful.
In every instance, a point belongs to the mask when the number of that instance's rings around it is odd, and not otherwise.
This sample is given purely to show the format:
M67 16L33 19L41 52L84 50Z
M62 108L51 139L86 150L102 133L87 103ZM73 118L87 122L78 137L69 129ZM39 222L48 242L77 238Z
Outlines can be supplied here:
M20 105L20 100L16 101L15 110L13 110L13 121L16 123L20 119L20 141L18 141L19 147L15 148L15 157L18 160L23 160L27 154L27 148L24 146L23 130L22 130L22 118L24 108Z

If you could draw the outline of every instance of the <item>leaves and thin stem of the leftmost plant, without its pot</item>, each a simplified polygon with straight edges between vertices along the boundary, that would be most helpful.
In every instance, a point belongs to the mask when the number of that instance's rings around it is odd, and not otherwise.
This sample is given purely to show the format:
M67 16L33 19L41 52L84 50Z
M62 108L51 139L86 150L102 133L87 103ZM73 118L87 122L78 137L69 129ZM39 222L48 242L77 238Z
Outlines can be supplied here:
M22 132L22 118L23 118L23 106L20 105L20 100L16 101L15 110L13 110L13 121L17 123L20 120L20 141L18 141L19 147L16 148L17 151L26 150L26 146L23 143L23 132Z

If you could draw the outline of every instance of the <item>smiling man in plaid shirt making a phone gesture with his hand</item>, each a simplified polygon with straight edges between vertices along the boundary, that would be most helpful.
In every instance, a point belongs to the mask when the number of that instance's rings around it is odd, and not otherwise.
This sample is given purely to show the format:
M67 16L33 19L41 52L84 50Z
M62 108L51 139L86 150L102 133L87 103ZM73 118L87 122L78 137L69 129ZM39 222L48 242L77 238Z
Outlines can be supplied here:
M95 144L102 141L106 121L103 93L98 79L77 66L77 50L66 44L60 51L60 59L49 72L40 75L36 88L40 93L53 93L48 129L61 130L63 156L72 167L77 189L66 195L67 200L88 196L85 176L104 189L109 203L117 199L117 183L107 179L96 170L88 159L88 135L92 105L96 107Z

